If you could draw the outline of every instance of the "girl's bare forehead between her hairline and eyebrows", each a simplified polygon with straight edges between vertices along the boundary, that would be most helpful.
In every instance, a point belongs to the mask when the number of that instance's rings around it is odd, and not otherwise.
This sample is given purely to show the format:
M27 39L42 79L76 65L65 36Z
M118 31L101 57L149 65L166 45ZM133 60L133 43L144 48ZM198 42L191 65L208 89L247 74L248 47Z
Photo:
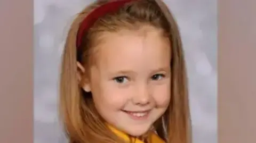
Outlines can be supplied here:
M97 61L106 68L116 66L151 65L170 63L170 43L160 32L147 32L138 35L127 32L106 33L105 40L98 46Z

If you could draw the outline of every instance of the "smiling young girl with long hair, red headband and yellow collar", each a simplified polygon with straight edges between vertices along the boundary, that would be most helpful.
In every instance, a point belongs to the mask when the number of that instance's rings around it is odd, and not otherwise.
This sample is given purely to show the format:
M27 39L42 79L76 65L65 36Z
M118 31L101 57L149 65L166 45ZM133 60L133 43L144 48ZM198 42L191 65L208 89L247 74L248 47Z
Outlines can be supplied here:
M186 70L161 0L97 1L68 32L60 113L70 143L188 143Z

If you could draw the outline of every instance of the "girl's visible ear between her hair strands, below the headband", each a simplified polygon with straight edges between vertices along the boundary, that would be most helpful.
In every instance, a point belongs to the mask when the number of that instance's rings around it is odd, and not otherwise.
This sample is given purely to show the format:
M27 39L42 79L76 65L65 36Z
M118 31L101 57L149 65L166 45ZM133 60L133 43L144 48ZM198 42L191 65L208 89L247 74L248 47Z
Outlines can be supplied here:
M84 89L84 91L90 92L91 91L90 82L89 82L89 80L87 78L84 79L84 76L83 76L84 74L85 74L84 66L80 62L77 62L77 78L78 78L78 82L81 84L81 86Z

